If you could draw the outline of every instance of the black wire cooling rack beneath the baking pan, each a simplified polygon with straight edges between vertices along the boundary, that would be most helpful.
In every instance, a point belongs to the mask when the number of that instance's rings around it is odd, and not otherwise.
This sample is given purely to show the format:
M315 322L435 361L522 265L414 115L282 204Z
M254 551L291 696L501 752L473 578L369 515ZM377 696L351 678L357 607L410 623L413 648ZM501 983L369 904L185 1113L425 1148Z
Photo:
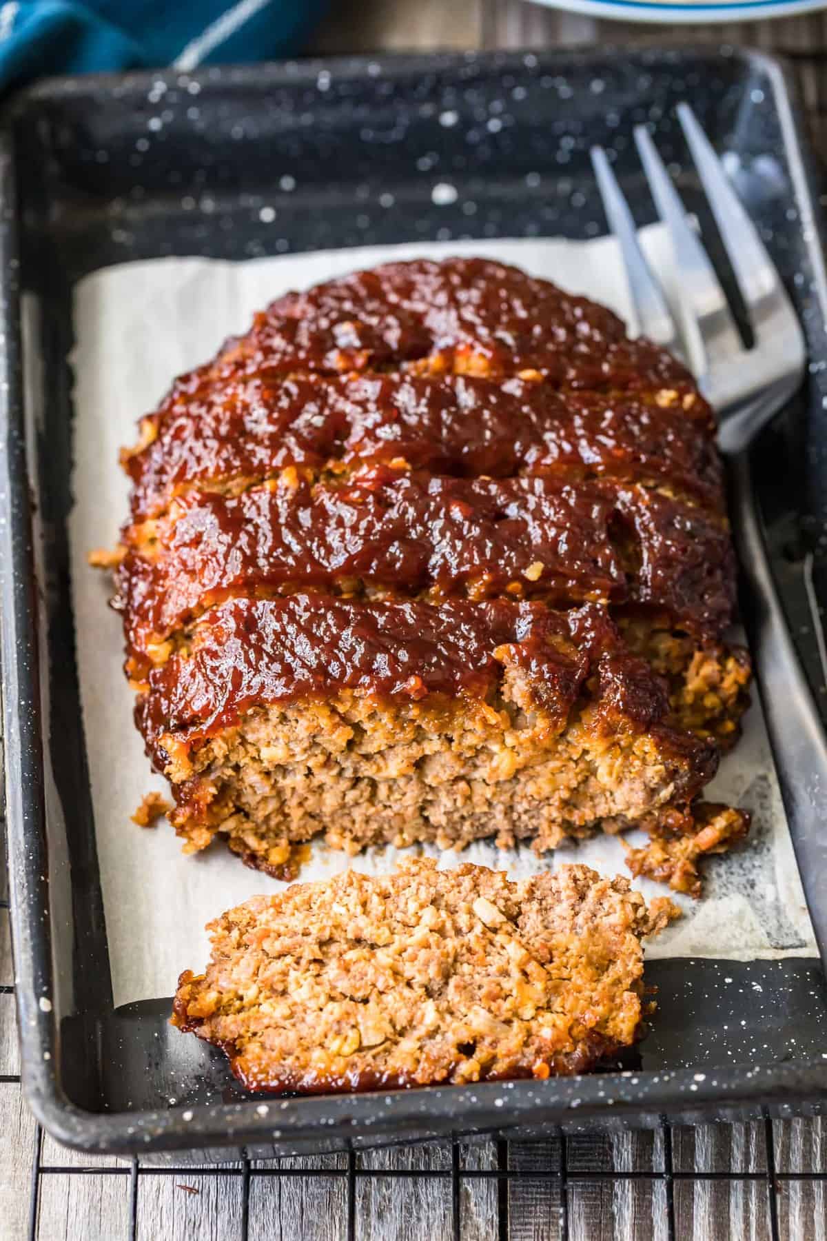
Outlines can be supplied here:
M694 1186L701 1183L733 1186L751 1186L758 1193L751 1193L741 1198L740 1210L735 1214L744 1222L744 1234L749 1236L766 1236L780 1239L781 1236L810 1236L815 1234L791 1231L791 1220L787 1220L784 1229L780 1227L782 1215L781 1198L785 1194L785 1183L810 1181L821 1183L827 1180L827 1174L780 1172L774 1157L774 1132L769 1119L761 1123L766 1150L766 1167L763 1170L709 1170L697 1169L682 1170L674 1167L672 1131L668 1124L663 1124L660 1131L660 1140L655 1139L655 1145L661 1148L663 1167L653 1169L622 1170L613 1168L572 1168L570 1145L577 1143L578 1154L584 1155L584 1145L591 1147L598 1153L601 1147L600 1138L567 1139L563 1136L551 1138L547 1142L513 1143L493 1142L489 1145L493 1148L493 1167L467 1167L464 1165L464 1153L469 1149L460 1143L451 1145L441 1144L440 1154L446 1153L450 1160L449 1167L394 1167L394 1157L402 1157L404 1164L405 1149L382 1152L382 1160L366 1167L366 1154L348 1152L342 1154L338 1167L319 1167L314 1162L306 1160L273 1160L272 1163L254 1164L244 1159L241 1164L233 1165L181 1165L181 1167L144 1167L139 1160L124 1164L104 1165L74 1165L67 1163L51 1163L43 1160L43 1138L40 1128L36 1129L31 1185L30 1185L30 1212L29 1212L29 1237L43 1237L38 1230L38 1207L45 1183L53 1176L119 1176L129 1183L129 1210L125 1212L123 1229L118 1232L124 1239L138 1239L139 1236L161 1236L155 1226L146 1226L141 1221L141 1196L144 1183L149 1179L164 1178L172 1183L174 1189L181 1198L185 1194L197 1194L201 1189L192 1181L202 1183L203 1179L217 1179L227 1191L232 1185L231 1198L236 1216L233 1235L242 1241L249 1241L252 1236L259 1236L260 1229L257 1225L255 1211L263 1210L268 1195L274 1193L275 1181L310 1179L312 1181L336 1181L341 1191L335 1195L336 1206L326 1222L324 1235L340 1236L352 1241L352 1239L366 1235L361 1219L365 1211L366 1195L362 1186L366 1181L382 1181L386 1196L384 1210L388 1210L387 1198L393 1195L400 1183L412 1180L419 1181L420 1190L434 1193L440 1205L448 1206L439 1211L439 1217L444 1225L438 1234L430 1229L428 1234L418 1231L415 1217L407 1219L405 1236L425 1237L435 1241L435 1236L450 1237L453 1241L460 1239L477 1237L486 1235L497 1241L511 1241L511 1239L524 1236L554 1236L569 1239L572 1236L591 1237L589 1224L594 1222L595 1203L598 1214L603 1215L603 1194L609 1186L613 1198L614 1191L625 1188L632 1190L629 1194L629 1203L632 1204L635 1196L640 1199L639 1210L627 1210L625 1214L630 1224L637 1216L634 1232L614 1232L615 1236L662 1236L683 1239L691 1235L698 1236L687 1230L686 1209L681 1207L678 1199L682 1196L684 1186ZM420 1148L422 1150L422 1148ZM336 1159L336 1157L327 1157ZM542 1163L553 1162L555 1167L539 1167ZM588 1160L586 1160L588 1162ZM528 1167L526 1167L528 1164ZM469 1194L469 1186L486 1185L491 1193L476 1195L476 1201L469 1207L469 1201L475 1196ZM408 1186L405 1186L408 1189ZM642 1194L640 1193L642 1189ZM591 1193L589 1193L591 1190ZM595 1195L596 1190L596 1195ZM584 1193L585 1191L585 1193ZM635 1193L637 1191L637 1193ZM622 1198L621 1194L619 1195ZM823 1193L821 1196L823 1204ZM408 1198L408 1193L402 1193L402 1198ZM640 1209L642 1204L642 1211ZM734 1205L734 1203L732 1204ZM485 1207L485 1220L480 1219L480 1206ZM646 1210L648 1206L648 1210ZM723 1201L720 1204L724 1206ZM813 1203L813 1207L816 1204ZM745 1210L746 1207L746 1210ZM402 1214L400 1203L400 1214ZM433 1212L431 1212L433 1214ZM615 1214L615 1212L613 1212ZM789 1215L789 1211L786 1212ZM466 1215L469 1217L466 1219ZM646 1229L646 1220L641 1216L648 1215L650 1227ZM732 1210L725 1210L724 1219ZM822 1227L826 1216L822 1215ZM283 1224L288 1221L283 1220ZM376 1222L376 1221L374 1221ZM424 1224L424 1220L422 1221ZM619 1222L615 1220L615 1222ZM813 1216L815 1222L815 1216ZM484 1225L481 1229L480 1225ZM371 1230L376 1235L376 1230ZM222 1231L216 1234L224 1241L231 1234ZM286 1227L285 1236L303 1236L306 1234L291 1234ZM383 1234L379 1234L383 1235ZM391 1235L391 1232L388 1232ZM397 1235L397 1230L393 1230ZM709 1236L735 1236L735 1232L714 1232ZM109 1236L109 1234L107 1234ZM113 1241L115 1234L112 1234Z

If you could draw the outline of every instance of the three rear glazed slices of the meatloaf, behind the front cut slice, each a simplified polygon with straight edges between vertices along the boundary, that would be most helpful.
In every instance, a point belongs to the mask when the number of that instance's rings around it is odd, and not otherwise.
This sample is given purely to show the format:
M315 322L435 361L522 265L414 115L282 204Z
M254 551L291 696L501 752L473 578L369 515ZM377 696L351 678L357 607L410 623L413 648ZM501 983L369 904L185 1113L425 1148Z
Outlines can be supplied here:
M307 588L643 606L712 640L732 618L692 380L610 310L498 263L288 294L175 383L124 463L117 604L139 679L223 599Z

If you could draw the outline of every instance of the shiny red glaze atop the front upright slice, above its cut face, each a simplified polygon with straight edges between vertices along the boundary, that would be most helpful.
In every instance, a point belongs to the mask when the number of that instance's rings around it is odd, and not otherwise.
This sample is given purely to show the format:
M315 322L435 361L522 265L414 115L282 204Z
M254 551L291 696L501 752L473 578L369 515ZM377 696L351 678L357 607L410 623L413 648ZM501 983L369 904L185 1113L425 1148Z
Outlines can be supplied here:
M505 601L435 607L304 593L229 599L196 625L186 650L150 671L140 720L150 737L175 721L176 735L191 743L238 722L254 704L343 689L392 701L485 699L503 665L516 665L529 671L533 705L558 730L595 656L613 647L622 652L596 607L558 613ZM645 690L632 710L663 714L662 686L637 664Z

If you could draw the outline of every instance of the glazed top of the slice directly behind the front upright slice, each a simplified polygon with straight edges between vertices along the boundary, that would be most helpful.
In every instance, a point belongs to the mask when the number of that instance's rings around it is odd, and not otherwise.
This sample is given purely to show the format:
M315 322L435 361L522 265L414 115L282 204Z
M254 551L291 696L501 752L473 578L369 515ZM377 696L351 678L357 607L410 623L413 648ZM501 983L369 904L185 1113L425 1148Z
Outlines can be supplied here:
M729 535L642 486L458 479L369 467L345 483L295 469L236 496L190 493L124 535L117 582L135 668L232 593L327 587L433 599L538 596L647 603L717 635L729 620Z

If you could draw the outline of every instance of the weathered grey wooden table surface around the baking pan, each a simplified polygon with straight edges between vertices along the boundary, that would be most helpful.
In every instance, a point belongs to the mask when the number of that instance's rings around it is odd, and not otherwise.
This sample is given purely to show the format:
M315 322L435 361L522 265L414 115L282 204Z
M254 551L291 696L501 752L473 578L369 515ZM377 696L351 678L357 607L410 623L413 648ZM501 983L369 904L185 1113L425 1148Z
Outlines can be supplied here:
M536 48L600 41L727 42L777 51L796 67L813 144L827 161L827 14L668 29L594 21L523 0L332 0L331 7L335 12L317 32L314 53ZM557 1139L510 1143L508 1150L484 1142L459 1154L446 1145L410 1147L361 1155L350 1168L346 1157L325 1157L281 1160L270 1168L203 1167L175 1173L63 1150L40 1133L16 1081L11 952L2 897L0 891L2 1241L29 1236L41 1241L827 1237L826 1186L818 1175L827 1173L827 1126L818 1119L584 1137L569 1139L564 1153ZM451 1175L453 1160L459 1160L459 1176ZM314 1163L322 1175L290 1174L298 1165L306 1169ZM41 1173L32 1194L36 1164ZM480 1175L503 1168L533 1174L533 1179ZM776 1194L770 1193L772 1183Z

